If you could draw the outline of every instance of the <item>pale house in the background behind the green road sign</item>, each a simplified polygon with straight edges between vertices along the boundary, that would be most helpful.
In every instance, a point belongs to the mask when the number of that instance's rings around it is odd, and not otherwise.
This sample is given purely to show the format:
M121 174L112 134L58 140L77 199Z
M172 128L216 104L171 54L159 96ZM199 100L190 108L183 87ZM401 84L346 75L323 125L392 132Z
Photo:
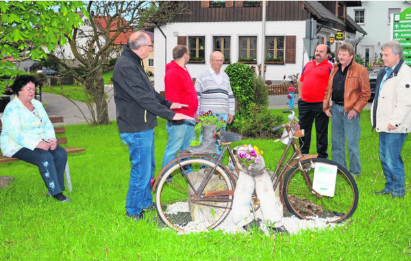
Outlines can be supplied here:
M410 6L411 1L362 1L362 6L347 8L347 14L368 33L356 50L367 64L377 61L382 44L392 39L390 14L399 14Z

